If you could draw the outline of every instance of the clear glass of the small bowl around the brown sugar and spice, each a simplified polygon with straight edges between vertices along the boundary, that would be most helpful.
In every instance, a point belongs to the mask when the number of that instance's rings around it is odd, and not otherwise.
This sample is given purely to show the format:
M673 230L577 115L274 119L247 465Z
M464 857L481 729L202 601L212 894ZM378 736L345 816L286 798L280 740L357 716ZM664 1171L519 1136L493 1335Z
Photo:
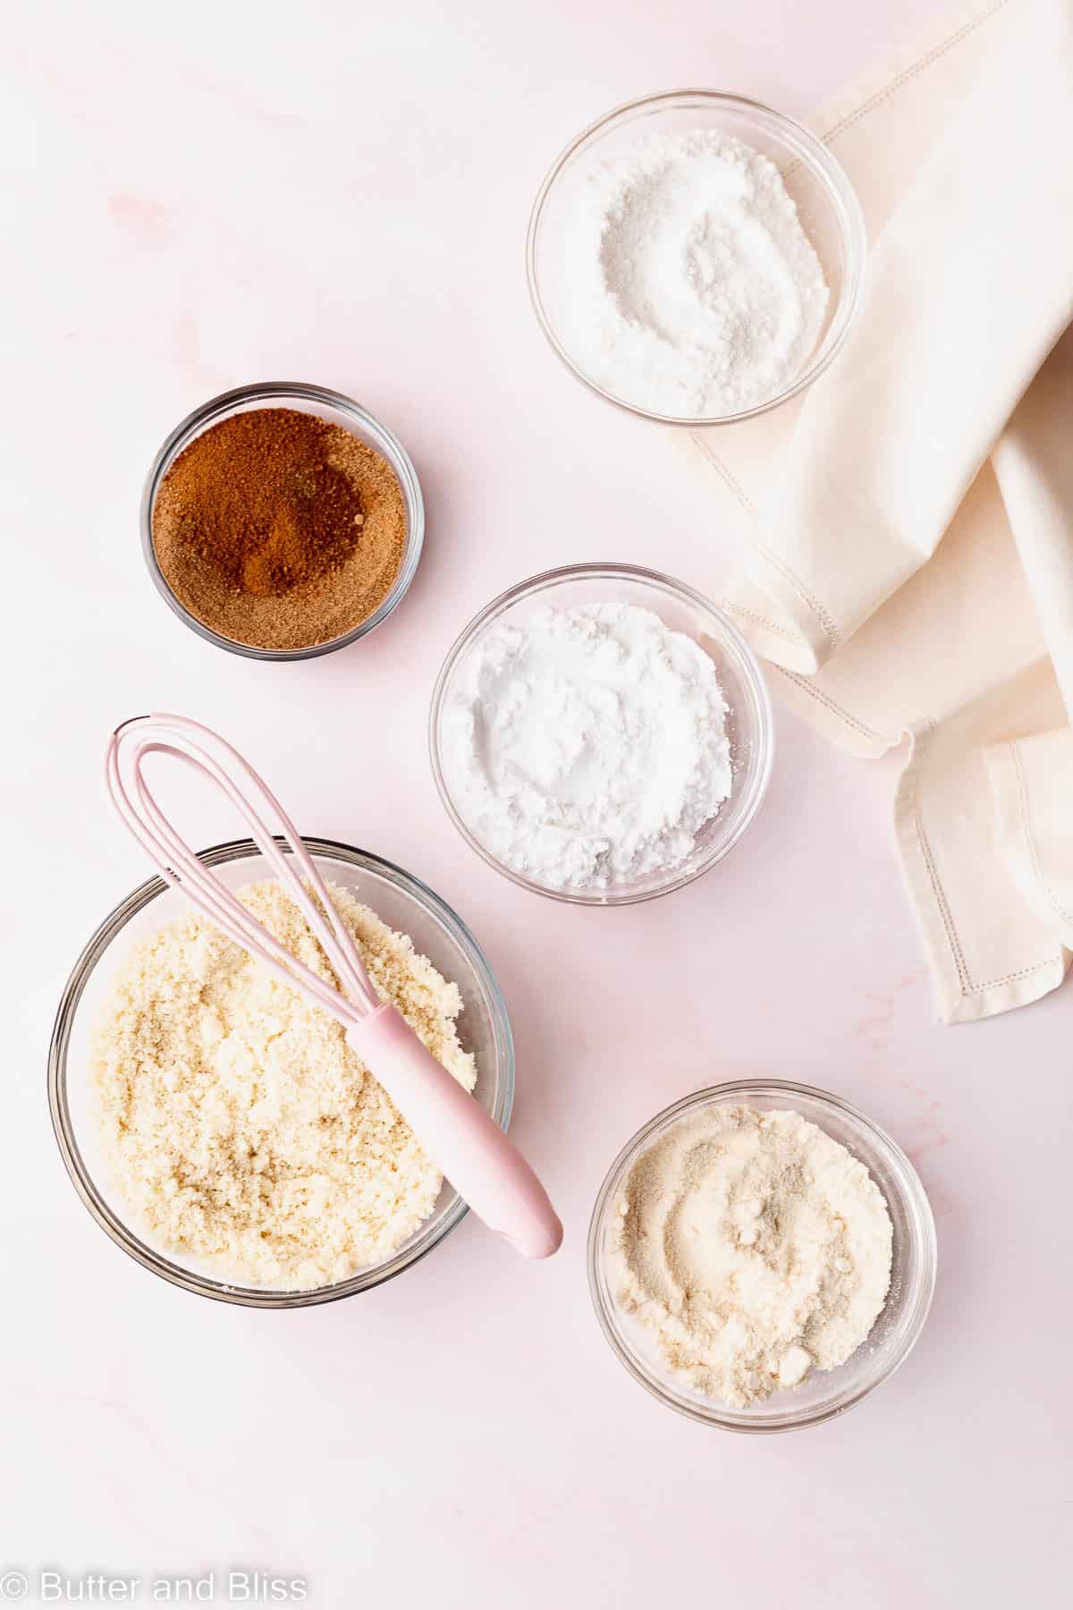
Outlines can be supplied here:
M230 419L233 414L248 414L257 407L293 407L301 414L315 414L330 425L341 425L343 430L349 430L352 436L357 436L367 448L380 452L388 460L399 478L405 501L405 551L399 565L399 575L394 578L388 597L380 609L373 610L367 620L359 621L351 631L344 631L339 638L330 638L327 642L310 642L304 649L257 649L249 642L236 642L233 638L224 638L219 631L212 631L211 626L206 626L203 620L191 615L187 605L175 597L164 580L153 546L153 506L156 504L161 481L179 454L190 446L195 436L208 430L209 425L219 425L220 420ZM206 642L214 642L217 649L227 649L228 654L245 654L248 660L312 660L319 654L331 654L335 649L344 649L347 642L357 642L359 638L380 626L402 599L417 572L423 543L425 501L417 470L399 438L386 425L373 419L359 402L344 398L341 391L327 391L323 386L307 386L301 382L269 380L261 385L238 386L235 391L222 391L219 398L211 398L175 425L153 459L153 467L142 493L142 552L145 554L153 586L169 609L191 631L196 631L199 638L204 638Z

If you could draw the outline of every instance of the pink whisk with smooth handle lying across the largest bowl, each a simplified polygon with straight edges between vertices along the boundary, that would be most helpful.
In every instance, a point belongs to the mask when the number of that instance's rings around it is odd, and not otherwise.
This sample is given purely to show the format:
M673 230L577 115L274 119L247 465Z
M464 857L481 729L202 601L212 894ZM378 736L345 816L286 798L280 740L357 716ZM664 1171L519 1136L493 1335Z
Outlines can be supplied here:
M179 837L142 774L146 755L171 755L193 766L238 810L254 844L320 940L339 990L291 956ZM198 721L145 715L124 721L113 733L105 776L116 810L161 877L228 939L343 1024L347 1045L372 1069L425 1151L478 1217L526 1257L555 1253L563 1227L544 1187L481 1103L421 1045L396 1008L380 1000L294 824L253 766L219 733ZM261 811L275 819L275 829L265 824ZM273 831L290 845L290 855L275 842Z

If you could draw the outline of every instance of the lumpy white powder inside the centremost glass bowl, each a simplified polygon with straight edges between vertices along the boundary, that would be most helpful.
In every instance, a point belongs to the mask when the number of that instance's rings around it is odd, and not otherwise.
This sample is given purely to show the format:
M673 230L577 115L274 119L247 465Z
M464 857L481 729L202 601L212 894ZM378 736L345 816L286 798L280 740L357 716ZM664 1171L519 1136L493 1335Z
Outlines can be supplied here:
M500 623L444 712L470 831L550 889L606 889L685 861L732 786L711 658L627 604Z

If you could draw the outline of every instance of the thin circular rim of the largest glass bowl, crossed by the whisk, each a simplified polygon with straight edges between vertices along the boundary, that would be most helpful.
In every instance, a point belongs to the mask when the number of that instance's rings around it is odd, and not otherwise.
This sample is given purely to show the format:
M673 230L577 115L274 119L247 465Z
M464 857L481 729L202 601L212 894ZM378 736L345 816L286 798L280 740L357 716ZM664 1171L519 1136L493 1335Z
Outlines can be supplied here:
M277 842L286 850L286 844L282 839L277 839ZM492 964L471 934L470 927L463 923L458 913L436 894L434 889L430 889L430 886L420 877L415 877L413 873L407 873L405 868L397 866L394 861L373 855L370 850L359 850L356 845L343 844L338 839L320 839L302 834L302 844L314 857L372 871L412 895L418 905L426 906L431 914L444 924L450 935L460 943L462 950L468 955L475 971L487 990L492 1008L499 1079L491 1116L502 1130L507 1130L510 1127L510 1116L515 1103L513 1032L510 1027L507 1003L499 987L499 979L495 977ZM199 850L198 860L204 861L206 866L222 866L230 861L251 860L257 855L261 855L261 850L253 839L232 839L225 844L214 844L206 850ZM328 1286L315 1286L309 1291L275 1291L261 1286L236 1286L224 1280L214 1280L208 1275L195 1274L182 1264L172 1262L162 1253L158 1253L154 1248L142 1241L134 1230L130 1230L127 1224L111 1211L97 1190L90 1170L82 1159L68 1101L66 1072L71 1027L93 969L105 960L113 942L119 937L127 923L143 911L158 895L164 894L167 887L169 886L162 877L148 877L143 884L138 884L137 889L132 889L130 894L108 913L82 947L60 997L60 1006L56 1009L48 1043L48 1111L63 1164L77 1195L109 1240L127 1253L129 1257L142 1264L143 1269L159 1275L171 1285L182 1286L185 1291L193 1291L198 1296L211 1298L219 1302L233 1302L241 1307L256 1309L315 1307L322 1302L336 1302L341 1298L356 1296L359 1291L372 1291L375 1286L384 1285L384 1282L393 1280L405 1269L420 1262L425 1256L428 1256L428 1253L433 1251L433 1248L439 1246L444 1236L447 1236L455 1225L462 1224L470 1211L462 1196L455 1195L455 1201L442 1216L442 1220L436 1227L434 1233L421 1238L421 1232L418 1228L418 1240L412 1246L394 1253L383 1264L376 1264L367 1270L359 1270L356 1275L351 1275L346 1280L338 1280Z

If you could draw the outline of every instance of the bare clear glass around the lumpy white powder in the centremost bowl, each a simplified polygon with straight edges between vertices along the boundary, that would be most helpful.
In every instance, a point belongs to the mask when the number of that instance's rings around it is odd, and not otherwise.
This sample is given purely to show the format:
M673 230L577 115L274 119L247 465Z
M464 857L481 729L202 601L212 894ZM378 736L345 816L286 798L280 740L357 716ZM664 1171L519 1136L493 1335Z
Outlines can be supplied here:
M523 877L494 857L458 810L450 787L450 760L442 739L444 710L454 694L458 671L467 655L494 625L505 618L510 618L512 625L520 625L549 604L555 609L576 609L581 604L632 604L652 610L672 631L692 638L714 662L729 705L727 736L734 781L730 797L698 834L695 850L687 861L610 889L552 889ZM455 828L476 853L521 889L549 895L552 900L595 906L634 905L637 900L671 894L729 855L761 807L774 755L774 724L764 676L756 655L737 628L714 604L682 581L674 581L656 570L642 570L639 565L615 564L545 570L492 599L487 609L470 621L444 660L433 692L428 739L439 797Z

